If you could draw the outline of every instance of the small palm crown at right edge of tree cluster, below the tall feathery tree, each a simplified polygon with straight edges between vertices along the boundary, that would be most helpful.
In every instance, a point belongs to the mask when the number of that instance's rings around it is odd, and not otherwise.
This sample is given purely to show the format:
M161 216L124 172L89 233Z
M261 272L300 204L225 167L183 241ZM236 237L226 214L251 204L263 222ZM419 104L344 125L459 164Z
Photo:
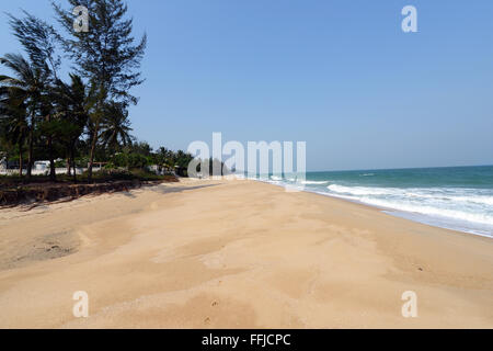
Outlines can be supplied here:
M128 111L123 104L116 102L106 104L104 110L101 140L112 152L115 152L121 150L122 146L131 144Z

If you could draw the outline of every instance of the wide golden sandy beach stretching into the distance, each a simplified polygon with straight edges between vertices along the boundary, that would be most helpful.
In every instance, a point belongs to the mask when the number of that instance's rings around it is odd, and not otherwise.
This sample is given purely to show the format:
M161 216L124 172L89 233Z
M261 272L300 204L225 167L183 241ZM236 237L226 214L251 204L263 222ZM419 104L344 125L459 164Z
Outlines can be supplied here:
M253 181L7 208L0 327L493 328L493 240Z

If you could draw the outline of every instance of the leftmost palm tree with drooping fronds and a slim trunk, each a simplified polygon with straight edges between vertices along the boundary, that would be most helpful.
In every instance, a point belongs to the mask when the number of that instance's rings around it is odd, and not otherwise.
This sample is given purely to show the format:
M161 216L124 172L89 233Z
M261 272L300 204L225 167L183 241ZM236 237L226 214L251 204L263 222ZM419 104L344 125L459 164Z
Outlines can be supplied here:
M7 88L12 95L15 95L16 99L21 99L24 102L26 114L28 115L27 179L31 179L31 170L34 163L34 129L38 117L42 95L49 79L49 69L47 67L32 65L19 54L7 54L0 58L0 64L10 68L14 73L14 77L0 76L1 87Z

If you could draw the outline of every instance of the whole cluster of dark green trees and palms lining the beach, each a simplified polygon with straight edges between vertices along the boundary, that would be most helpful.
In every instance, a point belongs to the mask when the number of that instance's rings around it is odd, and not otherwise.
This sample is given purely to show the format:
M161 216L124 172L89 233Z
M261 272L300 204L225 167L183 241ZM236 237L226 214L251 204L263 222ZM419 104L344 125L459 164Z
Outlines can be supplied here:
M66 160L68 172L93 165L144 168L148 165L186 168L192 156L164 147L152 150L131 136L128 111L137 104L131 88L144 82L140 63L147 45L144 34L133 36L133 20L122 0L67 0L51 2L58 30L23 11L9 16L12 34L25 54L5 54L0 64L0 151L26 166L32 177L35 160L49 160L56 180L56 160ZM88 9L89 31L73 29L73 8ZM62 58L71 66L60 78Z

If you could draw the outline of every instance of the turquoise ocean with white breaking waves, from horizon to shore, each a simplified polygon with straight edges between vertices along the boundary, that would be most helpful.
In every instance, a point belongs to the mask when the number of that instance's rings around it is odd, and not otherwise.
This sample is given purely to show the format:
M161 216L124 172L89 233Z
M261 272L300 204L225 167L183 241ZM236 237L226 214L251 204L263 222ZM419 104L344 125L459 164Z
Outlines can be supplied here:
M268 182L294 185L289 176ZM493 166L308 172L303 190L493 238Z

